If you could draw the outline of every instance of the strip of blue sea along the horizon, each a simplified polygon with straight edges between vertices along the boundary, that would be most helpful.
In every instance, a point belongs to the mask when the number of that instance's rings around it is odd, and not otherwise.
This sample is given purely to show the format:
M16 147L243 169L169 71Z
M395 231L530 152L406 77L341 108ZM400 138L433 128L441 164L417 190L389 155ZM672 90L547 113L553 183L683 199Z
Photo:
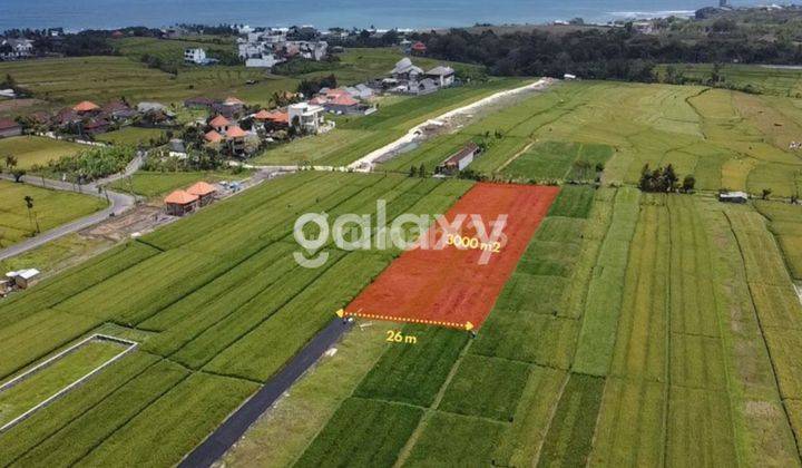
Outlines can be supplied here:
M581 17L692 14L717 0L0 0L0 31L62 27L70 31L124 26L236 23L317 28L442 28L489 23L544 23ZM756 1L732 0L734 6Z

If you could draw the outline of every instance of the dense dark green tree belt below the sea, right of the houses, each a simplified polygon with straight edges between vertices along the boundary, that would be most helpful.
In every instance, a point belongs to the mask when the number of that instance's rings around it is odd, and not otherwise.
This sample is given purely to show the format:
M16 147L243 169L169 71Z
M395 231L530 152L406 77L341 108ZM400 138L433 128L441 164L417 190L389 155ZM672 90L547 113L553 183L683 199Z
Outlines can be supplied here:
M550 76L654 81L655 64L802 64L802 45L770 41L739 28L711 28L693 41L678 36L644 35L632 25L565 33L542 30L497 35L451 29L412 37L430 57L479 64L493 75Z

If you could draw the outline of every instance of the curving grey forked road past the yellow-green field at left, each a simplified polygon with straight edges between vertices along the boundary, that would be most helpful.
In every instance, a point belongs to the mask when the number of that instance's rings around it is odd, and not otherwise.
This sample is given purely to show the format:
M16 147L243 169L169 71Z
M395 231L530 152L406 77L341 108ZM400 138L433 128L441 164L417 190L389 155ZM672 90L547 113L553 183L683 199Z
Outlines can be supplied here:
M36 176L25 176L22 181L26 184L33 185L37 187L45 187L45 188L51 188L56 191L65 191L65 192L75 192L75 193L81 193L86 195L92 195L100 198L107 198L109 201L109 206L105 209L101 209L99 212L92 213L88 216L81 217L79 220L72 221L67 224L62 224L58 227L53 227L50 231L46 231L41 234L39 234L36 237L31 237L29 240L22 241L20 243L13 244L9 247L6 247L3 250L0 250L0 261L10 259L12 256L19 255L21 253L28 252L31 248L36 248L40 245L47 244L50 241L55 241L59 237L62 237L67 234L72 234L75 232L85 230L89 226L94 226L95 224L98 224L105 220L107 220L111 215L120 215L128 211L131 206L136 204L136 198L127 195L121 194L118 192L113 191L105 191L102 193L98 192L98 185L104 185L111 183L114 181L120 179L123 177L127 177L130 174L134 174L139 169L139 166L141 166L143 158L140 156L137 156L134 160L131 160L130 164L128 164L128 167L126 167L126 170L119 174L116 174L114 176L107 177L102 181L98 181L92 184L87 185L76 185L70 184L67 182L61 181L52 181L49 178L42 179L41 177ZM13 181L13 177L7 174L0 174L0 178L7 179L7 181Z

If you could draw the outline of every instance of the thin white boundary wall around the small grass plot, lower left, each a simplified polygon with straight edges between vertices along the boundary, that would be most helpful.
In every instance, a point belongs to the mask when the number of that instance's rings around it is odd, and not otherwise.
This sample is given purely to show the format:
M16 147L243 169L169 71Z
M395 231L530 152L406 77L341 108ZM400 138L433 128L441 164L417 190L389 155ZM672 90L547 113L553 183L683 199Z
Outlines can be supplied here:
M88 373L84 374L78 380L75 380L72 383L68 384L67 387L62 388L61 390L57 391L56 393L53 393L50 397L46 398L45 400L40 401L38 404L28 409L22 415L19 415L11 421L4 423L2 427L0 427L0 433L6 432L7 430L9 430L12 427L17 426L18 423L20 423L21 421L28 419L31 415L33 415L38 410L45 408L46 406L50 404L51 402L53 402L53 401L58 400L59 398L63 397L65 394L69 393L76 387L80 386L81 383L86 382L87 380L92 378L95 374L97 374L101 370L104 370L107 367L111 365L113 363L117 362L118 360L120 360L123 357L125 357L129 352L134 351L139 345L139 343L137 343L136 341L130 341L130 340L126 340L124 338L117 338L117 337L111 337L111 335L101 334L101 333L95 333L95 334L77 342L76 344L72 344L71 347L60 351L59 353L51 355L50 358L46 359L45 361L40 362L39 364L28 369L27 371L22 372L21 374L17 376L13 379L9 380L8 382L3 383L2 386L0 386L0 393L17 386L20 382L27 380L30 376L38 373L40 370L49 368L53 362L65 358L68 354L71 354L72 352L85 347L86 344L88 344L91 341L111 341L111 342L115 342L118 344L125 344L125 345L127 345L127 348L124 349L123 351L120 351L119 353L117 353L111 359L104 362L102 364L96 367Z

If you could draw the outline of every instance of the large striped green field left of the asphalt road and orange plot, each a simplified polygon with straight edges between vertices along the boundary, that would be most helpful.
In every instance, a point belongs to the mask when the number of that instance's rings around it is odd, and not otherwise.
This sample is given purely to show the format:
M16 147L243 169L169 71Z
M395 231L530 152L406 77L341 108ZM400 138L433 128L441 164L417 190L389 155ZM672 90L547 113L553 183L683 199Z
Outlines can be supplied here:
M300 250L292 240L297 216L374 214L378 198L388 201L389 221L408 211L440 213L470 186L382 175L288 176L3 302L2 376L108 322L141 337L147 354L126 357L45 408L49 419L37 412L0 435L0 459L39 465L62 454L77 465L175 464L395 254L327 246L325 267L301 269L292 256ZM117 376L127 377L111 379Z

